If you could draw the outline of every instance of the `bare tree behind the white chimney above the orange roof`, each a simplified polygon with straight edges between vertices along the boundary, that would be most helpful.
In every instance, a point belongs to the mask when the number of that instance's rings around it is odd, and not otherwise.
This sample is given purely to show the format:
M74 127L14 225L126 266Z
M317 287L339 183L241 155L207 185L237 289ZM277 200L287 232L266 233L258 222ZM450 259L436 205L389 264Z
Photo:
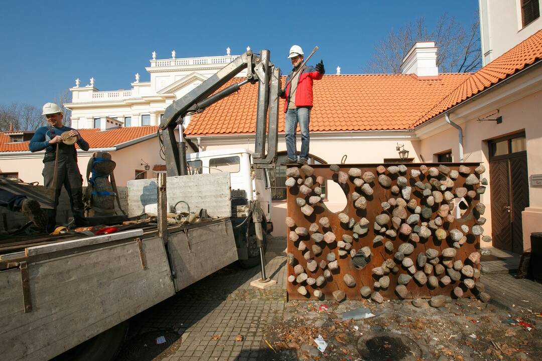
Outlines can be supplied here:
M467 29L446 13L438 19L435 29L429 29L423 17L391 30L384 40L375 45L375 53L365 67L367 73L401 73L406 52L416 41L434 41L437 66L441 73L468 73L482 64L478 17Z

